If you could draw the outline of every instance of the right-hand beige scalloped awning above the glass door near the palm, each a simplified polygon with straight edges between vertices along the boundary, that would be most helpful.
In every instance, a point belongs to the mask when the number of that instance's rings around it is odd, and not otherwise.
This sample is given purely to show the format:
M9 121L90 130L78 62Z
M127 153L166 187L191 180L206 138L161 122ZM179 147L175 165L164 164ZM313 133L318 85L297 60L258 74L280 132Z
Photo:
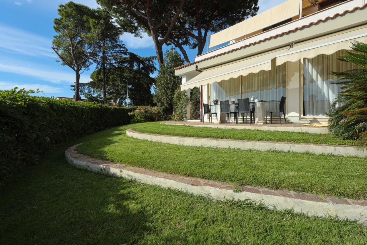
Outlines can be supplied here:
M281 65L286 61L298 61L302 58L314 58L319 54L333 54L343 49L352 50L350 46L352 46L351 42L353 41L367 43L367 27L339 35L328 36L327 38L295 44L288 52L276 56L276 65Z

